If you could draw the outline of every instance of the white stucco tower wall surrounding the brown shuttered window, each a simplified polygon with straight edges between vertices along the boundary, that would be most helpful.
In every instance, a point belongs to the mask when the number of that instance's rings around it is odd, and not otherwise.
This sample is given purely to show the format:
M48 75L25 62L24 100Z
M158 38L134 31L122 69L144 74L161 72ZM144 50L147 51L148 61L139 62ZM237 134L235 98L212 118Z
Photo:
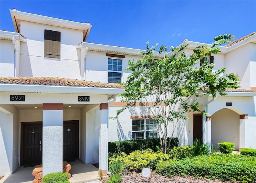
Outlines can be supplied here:
M61 32L60 59L44 57L45 29ZM21 47L20 76L81 79L80 50L76 44L82 42L82 31L24 21L20 30L27 38Z

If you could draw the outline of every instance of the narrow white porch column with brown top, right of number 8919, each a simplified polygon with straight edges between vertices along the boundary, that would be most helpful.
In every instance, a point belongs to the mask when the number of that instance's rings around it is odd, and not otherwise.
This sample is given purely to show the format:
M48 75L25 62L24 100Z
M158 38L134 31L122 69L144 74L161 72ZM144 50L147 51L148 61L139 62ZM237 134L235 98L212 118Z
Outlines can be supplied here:
M100 104L99 175L107 175L108 169L108 103Z

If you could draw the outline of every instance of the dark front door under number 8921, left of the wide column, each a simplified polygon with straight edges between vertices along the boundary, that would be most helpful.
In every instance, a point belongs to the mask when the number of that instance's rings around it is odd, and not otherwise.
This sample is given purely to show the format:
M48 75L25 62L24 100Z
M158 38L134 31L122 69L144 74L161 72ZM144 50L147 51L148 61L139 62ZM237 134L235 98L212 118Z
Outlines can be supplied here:
M42 122L23 123L23 165L32 166L42 163Z

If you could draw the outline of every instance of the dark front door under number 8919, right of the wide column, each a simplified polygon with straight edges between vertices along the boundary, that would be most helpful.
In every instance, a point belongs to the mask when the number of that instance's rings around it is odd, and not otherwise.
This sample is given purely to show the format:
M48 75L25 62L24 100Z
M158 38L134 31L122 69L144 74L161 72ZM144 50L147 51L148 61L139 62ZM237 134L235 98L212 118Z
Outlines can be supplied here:
M78 159L78 121L63 121L63 160Z

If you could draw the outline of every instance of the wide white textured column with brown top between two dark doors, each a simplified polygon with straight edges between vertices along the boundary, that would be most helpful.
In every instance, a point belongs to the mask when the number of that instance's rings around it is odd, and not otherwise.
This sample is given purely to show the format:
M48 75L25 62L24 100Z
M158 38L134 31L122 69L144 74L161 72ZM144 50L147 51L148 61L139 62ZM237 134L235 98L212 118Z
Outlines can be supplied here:
M62 172L63 105L43 103L43 176Z

